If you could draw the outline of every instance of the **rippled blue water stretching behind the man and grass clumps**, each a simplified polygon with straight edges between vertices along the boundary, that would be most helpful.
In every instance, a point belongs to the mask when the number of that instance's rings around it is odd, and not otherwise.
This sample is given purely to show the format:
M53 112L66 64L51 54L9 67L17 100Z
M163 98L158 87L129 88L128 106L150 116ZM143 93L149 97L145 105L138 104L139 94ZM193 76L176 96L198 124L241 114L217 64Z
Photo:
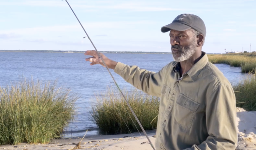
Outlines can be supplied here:
M141 69L157 72L167 63L173 61L167 54L105 54L108 58L128 65L137 65ZM76 120L67 127L67 135L80 136L90 129L88 134L96 134L97 127L89 121L91 103L95 100L95 92L105 92L113 85L107 69L102 66L90 66L83 53L16 53L0 52L0 86L19 81L21 77L39 79L40 81L55 81L57 86L70 87L80 95L76 101ZM245 78L241 68L225 64L215 64L230 82ZM119 75L111 70L121 88L131 88ZM114 85L113 85L114 86Z

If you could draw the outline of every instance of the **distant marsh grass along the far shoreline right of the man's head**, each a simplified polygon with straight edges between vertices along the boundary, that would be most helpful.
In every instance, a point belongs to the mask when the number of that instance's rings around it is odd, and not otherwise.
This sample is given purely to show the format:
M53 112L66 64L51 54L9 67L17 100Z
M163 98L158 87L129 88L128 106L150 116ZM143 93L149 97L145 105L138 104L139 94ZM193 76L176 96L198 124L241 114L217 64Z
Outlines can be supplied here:
M211 63L225 63L230 66L241 67L241 72L255 73L256 53L208 55Z

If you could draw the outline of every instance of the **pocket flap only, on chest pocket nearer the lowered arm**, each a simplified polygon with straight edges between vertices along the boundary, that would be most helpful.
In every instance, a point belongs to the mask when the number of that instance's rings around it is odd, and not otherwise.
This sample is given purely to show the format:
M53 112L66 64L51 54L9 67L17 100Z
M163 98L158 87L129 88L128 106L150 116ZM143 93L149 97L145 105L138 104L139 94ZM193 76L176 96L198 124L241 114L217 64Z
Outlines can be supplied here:
M179 95L179 98L177 99L176 103L179 104L181 107L184 107L192 112L195 112L200 105L198 102L193 101L191 98L183 94Z

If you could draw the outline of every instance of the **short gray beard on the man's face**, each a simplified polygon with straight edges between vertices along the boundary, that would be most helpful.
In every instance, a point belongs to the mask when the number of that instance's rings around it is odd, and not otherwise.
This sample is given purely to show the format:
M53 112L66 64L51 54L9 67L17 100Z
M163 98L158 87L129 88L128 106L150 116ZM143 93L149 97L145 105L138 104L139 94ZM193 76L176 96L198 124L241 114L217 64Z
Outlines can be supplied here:
M181 62L192 58L192 56L195 54L196 45L196 38L194 38L188 46L184 47L184 49L179 46L177 49L179 49L180 52L172 53L174 61ZM179 54L180 56L178 56Z

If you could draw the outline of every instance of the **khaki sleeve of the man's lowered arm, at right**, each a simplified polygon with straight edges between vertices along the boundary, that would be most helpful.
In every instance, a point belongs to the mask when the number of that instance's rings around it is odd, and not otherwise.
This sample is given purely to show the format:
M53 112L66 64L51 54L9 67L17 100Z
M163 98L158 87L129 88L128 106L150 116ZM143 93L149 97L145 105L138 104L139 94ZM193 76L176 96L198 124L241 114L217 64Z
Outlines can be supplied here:
M207 99L208 138L185 150L235 150L237 146L236 97L233 88L219 85Z

